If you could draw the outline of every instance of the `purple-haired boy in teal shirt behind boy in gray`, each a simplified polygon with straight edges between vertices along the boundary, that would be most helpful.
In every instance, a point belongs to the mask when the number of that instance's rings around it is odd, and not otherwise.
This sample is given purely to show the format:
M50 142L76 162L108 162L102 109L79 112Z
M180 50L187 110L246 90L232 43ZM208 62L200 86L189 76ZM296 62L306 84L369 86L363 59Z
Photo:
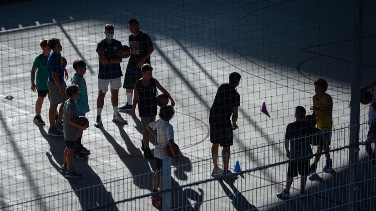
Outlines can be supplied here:
M86 113L90 111L89 101L88 101L88 89L86 87L86 81L83 75L86 73L86 63L82 60L75 60L73 62L73 69L76 71L76 74L73 75L71 79L71 84L76 84L79 87L80 95L75 99L77 105L78 116L86 116ZM86 155L90 154L90 151L83 147L81 143L82 132L78 135L77 139L77 149L74 152L74 157L78 159L85 160Z

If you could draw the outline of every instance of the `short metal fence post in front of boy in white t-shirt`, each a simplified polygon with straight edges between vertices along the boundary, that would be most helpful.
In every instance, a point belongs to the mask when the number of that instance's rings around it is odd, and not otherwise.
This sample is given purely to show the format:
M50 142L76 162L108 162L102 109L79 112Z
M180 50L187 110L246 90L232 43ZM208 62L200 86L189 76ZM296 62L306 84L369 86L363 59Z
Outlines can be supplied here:
M163 189L171 188L171 165L172 160L171 158L164 158L162 162L162 185ZM162 211L171 210L171 191L168 191L167 193L163 193L163 201L162 201Z

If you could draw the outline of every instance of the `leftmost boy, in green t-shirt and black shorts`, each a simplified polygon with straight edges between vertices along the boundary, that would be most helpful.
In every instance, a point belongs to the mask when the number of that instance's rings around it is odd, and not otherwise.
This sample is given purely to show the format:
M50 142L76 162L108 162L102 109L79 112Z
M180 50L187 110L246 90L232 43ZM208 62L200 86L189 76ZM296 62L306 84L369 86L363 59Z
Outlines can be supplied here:
M38 92L38 98L35 102L35 116L33 122L39 125L45 124L45 122L41 118L41 110L44 98L48 95L48 98L50 99L50 94L47 87L47 60L50 56L51 49L48 47L47 41L47 39L41 39L41 41L39 42L39 45L42 48L42 53L35 58L33 66L31 68L31 90L33 92Z

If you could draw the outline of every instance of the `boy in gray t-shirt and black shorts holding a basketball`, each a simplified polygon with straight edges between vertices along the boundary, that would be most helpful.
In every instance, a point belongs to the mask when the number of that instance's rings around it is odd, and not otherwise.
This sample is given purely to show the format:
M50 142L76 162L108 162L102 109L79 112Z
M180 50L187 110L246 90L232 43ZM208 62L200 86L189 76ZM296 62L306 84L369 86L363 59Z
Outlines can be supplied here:
M80 95L79 87L75 84L67 86L65 89L69 100L64 104L63 131L65 138L64 164L60 172L65 172L66 178L80 178L82 175L75 172L73 168L73 154L77 147L77 134L88 128L88 125L80 125L76 120L77 106L74 102Z

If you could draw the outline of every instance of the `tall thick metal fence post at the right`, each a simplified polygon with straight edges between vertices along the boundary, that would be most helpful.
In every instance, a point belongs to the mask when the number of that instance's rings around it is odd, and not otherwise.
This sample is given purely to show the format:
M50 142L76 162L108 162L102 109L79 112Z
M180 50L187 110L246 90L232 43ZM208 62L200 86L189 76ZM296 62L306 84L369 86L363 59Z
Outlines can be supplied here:
M359 113L360 113L360 75L362 58L362 15L363 0L354 0L353 18L353 58L352 58L352 78L351 78L351 110L350 110L350 144L354 144L349 149L349 169L347 173L347 207L348 211L357 210L358 185L357 163L359 156Z

